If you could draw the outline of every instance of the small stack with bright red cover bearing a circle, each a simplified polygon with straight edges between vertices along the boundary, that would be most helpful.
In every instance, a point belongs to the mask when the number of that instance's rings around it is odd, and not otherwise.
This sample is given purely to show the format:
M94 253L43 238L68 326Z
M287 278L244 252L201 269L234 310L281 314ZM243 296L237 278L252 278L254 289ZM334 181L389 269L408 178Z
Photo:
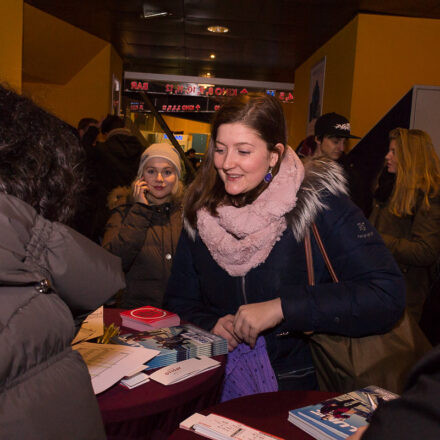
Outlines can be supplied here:
M133 330L152 330L180 324L180 318L173 312L153 306L138 307L120 313L122 326Z

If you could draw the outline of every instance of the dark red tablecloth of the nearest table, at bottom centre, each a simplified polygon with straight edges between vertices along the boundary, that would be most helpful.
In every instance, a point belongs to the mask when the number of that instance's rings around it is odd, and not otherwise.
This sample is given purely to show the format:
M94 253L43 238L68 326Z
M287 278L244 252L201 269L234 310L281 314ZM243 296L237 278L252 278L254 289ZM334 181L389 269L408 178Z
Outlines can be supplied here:
M261 393L229 400L199 412L205 415L216 413L285 440L309 440L312 437L287 420L289 410L318 403L337 395L338 393L321 391ZM202 438L190 431L177 429L169 440L201 440Z

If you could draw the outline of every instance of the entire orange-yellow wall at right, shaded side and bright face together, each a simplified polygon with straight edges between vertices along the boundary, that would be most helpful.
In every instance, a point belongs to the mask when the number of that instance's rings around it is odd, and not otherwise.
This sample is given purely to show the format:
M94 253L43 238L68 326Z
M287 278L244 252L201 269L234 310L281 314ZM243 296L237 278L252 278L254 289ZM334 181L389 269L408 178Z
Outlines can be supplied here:
M346 116L362 137L414 85L440 86L439 46L440 20L359 14L296 70L290 144L305 137L310 70L323 56L323 113Z

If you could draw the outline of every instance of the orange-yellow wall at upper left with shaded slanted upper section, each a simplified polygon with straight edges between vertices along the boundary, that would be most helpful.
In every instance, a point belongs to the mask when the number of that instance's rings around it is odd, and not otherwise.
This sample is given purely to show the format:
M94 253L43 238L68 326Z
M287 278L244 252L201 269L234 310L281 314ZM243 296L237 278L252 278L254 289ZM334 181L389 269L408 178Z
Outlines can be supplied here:
M112 75L122 60L110 43L25 5L23 92L76 126L111 110Z

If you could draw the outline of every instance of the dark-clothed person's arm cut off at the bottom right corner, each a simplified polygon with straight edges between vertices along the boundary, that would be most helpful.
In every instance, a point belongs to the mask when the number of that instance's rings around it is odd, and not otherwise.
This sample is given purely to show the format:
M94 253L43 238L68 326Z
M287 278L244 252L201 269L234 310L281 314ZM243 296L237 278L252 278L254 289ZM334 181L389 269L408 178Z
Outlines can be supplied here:
M369 426L347 440L438 440L439 421L440 345L437 345L416 364L401 397L384 402L373 413Z

